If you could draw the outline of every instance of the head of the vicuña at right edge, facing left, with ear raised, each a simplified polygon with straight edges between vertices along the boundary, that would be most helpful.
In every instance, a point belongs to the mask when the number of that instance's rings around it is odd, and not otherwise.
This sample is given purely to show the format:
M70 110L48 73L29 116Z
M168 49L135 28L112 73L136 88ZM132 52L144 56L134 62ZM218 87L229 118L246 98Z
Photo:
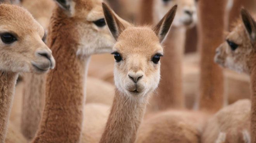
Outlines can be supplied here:
M237 72L251 73L256 53L256 22L247 10L241 10L242 22L216 50L215 62Z

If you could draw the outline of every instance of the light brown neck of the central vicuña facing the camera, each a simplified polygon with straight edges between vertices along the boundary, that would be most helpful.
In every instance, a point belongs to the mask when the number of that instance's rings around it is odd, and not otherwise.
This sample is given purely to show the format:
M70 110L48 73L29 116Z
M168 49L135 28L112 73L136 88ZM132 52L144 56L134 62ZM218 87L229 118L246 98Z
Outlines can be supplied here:
M131 100L116 90L100 143L133 143L144 117L147 100Z

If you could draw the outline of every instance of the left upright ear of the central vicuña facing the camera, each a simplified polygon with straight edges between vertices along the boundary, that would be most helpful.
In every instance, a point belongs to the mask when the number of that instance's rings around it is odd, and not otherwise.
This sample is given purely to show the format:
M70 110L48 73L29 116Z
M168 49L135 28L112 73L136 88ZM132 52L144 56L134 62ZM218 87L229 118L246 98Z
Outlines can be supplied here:
M102 8L104 11L104 16L107 22L107 26L109 27L110 32L113 37L117 40L118 36L125 30L126 23L122 23L119 21L118 17L115 16L114 12L106 3L102 3Z

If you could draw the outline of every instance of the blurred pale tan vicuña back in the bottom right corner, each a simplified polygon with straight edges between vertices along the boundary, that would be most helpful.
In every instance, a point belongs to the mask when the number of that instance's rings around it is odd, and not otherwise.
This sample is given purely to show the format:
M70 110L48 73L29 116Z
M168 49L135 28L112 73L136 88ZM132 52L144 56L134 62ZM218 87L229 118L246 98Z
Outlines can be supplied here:
M250 112L251 101L247 99L221 109L207 122L202 143L249 143L244 140L243 132L250 131Z

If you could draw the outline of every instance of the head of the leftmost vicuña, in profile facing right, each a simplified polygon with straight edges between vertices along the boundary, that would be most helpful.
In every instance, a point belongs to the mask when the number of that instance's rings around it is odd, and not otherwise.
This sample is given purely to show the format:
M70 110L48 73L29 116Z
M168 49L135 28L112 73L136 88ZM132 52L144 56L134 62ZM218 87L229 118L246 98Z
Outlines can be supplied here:
M42 41L44 30L27 10L1 4L0 21L0 71L42 73L54 68L52 51Z

